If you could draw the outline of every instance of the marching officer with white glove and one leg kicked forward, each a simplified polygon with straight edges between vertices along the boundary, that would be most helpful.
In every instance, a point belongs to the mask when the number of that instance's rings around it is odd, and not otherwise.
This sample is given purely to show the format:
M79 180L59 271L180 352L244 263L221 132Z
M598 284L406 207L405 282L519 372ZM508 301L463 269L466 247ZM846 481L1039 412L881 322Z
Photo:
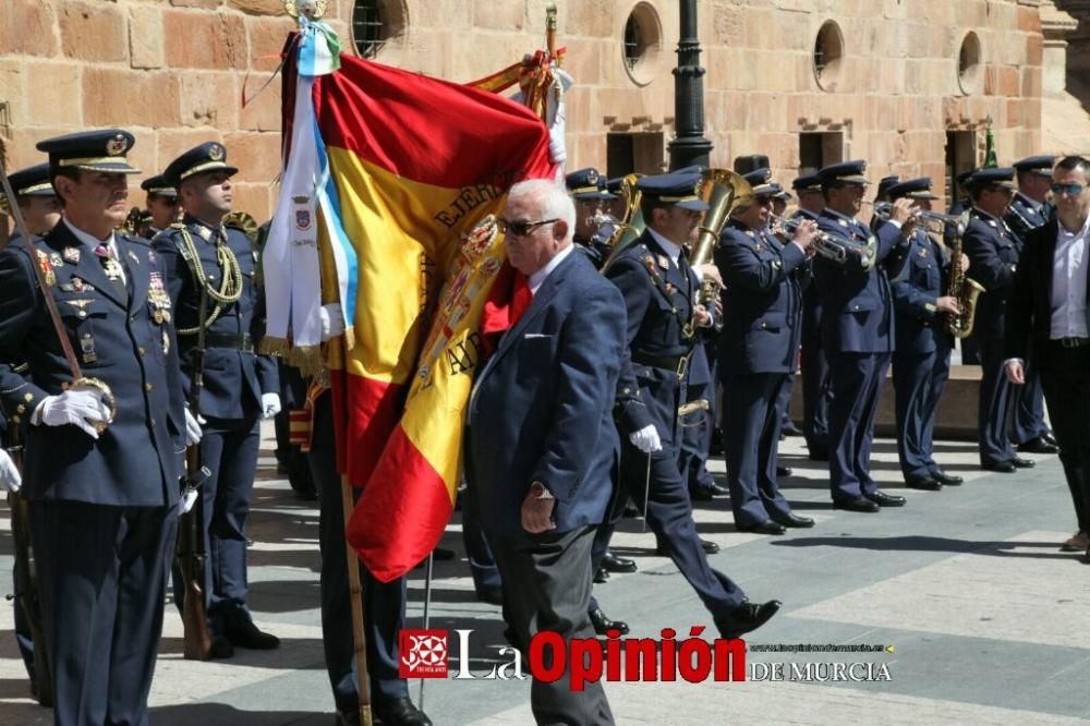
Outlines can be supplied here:
M695 302L700 279L683 253L707 209L698 194L700 183L699 173L641 178L640 206L647 227L605 270L620 289L628 313L628 359L618 397L623 403L618 423L620 481L638 508L646 505L647 523L662 552L697 591L720 634L736 638L766 622L779 602L749 602L737 584L708 565L678 464L678 409L688 400L689 358L698 328L713 324L708 311Z

